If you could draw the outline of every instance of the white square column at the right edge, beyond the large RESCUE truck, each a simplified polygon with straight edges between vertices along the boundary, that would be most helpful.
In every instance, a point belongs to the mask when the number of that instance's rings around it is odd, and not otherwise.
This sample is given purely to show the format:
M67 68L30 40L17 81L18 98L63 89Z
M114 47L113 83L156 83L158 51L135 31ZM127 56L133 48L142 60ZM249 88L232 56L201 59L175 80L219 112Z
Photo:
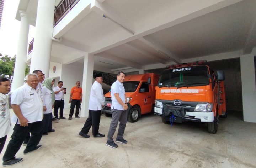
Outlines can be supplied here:
M244 121L256 122L254 56L240 56Z

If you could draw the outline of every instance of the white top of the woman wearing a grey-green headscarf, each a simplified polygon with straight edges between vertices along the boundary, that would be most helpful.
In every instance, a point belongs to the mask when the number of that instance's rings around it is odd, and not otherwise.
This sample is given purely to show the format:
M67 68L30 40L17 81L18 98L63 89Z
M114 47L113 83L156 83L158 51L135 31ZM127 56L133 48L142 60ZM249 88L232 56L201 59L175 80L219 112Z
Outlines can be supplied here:
M46 106L44 114L52 113L52 91L47 87L42 87L43 105Z

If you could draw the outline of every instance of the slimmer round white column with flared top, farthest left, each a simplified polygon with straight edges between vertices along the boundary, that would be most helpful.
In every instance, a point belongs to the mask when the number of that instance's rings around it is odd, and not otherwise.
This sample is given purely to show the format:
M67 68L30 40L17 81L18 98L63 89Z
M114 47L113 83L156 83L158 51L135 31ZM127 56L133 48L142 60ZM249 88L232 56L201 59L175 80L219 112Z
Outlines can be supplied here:
M26 68L27 58L27 44L28 44L28 31L29 31L29 19L26 11L19 10L21 16L20 35L18 39L18 48L16 62L14 66L14 76L12 80L11 90L14 91L18 87L23 85Z

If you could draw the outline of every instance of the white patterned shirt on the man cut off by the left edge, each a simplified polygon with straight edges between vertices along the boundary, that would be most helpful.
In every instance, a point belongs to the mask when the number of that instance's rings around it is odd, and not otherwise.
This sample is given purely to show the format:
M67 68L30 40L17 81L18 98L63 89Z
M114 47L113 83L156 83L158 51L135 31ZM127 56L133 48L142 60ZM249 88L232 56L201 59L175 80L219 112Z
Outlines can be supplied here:
M12 133L8 96L0 93L0 138Z

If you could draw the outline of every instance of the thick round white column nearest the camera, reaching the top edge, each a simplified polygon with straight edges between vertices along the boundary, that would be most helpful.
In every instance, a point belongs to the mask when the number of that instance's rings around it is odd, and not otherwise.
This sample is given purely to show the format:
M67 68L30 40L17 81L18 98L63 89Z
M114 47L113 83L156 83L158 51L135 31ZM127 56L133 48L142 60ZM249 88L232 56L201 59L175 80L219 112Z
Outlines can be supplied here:
M39 69L43 71L45 77L49 77L54 2L53 0L38 0L33 55L30 64L30 73Z

